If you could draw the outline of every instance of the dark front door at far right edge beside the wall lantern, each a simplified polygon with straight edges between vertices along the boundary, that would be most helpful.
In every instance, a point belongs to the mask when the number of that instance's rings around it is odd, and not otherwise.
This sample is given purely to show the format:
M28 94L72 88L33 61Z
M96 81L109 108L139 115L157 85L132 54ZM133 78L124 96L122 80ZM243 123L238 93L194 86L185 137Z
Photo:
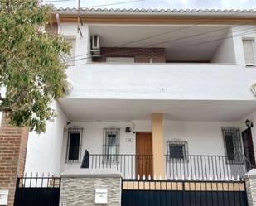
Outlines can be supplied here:
M244 132L242 132L242 137L243 137L243 143L244 143L244 156L255 167L256 164L255 164L255 156L254 156L254 143L253 143L251 129L248 128L244 130Z

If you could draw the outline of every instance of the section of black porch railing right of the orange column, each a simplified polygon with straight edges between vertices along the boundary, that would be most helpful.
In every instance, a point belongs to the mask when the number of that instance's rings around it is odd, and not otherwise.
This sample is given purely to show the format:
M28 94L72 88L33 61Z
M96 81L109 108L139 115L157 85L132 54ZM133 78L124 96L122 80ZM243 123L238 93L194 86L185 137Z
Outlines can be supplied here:
M241 153L235 156L165 156L167 180L239 180L253 168Z

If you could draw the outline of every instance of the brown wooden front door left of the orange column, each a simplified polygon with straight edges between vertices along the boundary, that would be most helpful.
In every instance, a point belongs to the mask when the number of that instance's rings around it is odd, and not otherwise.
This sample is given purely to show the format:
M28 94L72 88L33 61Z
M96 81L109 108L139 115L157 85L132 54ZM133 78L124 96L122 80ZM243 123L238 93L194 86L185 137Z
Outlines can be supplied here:
M152 178L153 159L152 159L152 136L151 132L136 133L136 175L140 178L145 175Z

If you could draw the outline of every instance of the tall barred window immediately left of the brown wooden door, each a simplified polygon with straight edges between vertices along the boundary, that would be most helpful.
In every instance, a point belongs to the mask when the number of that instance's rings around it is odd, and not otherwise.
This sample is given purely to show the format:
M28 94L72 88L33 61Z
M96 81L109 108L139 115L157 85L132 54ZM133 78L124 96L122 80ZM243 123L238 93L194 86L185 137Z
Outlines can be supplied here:
M104 160L117 161L119 154L119 128L104 128Z

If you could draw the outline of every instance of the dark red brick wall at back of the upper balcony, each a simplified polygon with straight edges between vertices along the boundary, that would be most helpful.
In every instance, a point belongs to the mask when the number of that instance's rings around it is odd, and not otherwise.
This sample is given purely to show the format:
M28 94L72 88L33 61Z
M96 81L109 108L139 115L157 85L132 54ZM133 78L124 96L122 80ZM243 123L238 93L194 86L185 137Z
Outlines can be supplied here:
M129 47L101 47L99 58L94 58L94 62L106 62L106 56L111 57L134 57L136 63L148 63L152 59L153 63L165 63L164 48L129 48Z

